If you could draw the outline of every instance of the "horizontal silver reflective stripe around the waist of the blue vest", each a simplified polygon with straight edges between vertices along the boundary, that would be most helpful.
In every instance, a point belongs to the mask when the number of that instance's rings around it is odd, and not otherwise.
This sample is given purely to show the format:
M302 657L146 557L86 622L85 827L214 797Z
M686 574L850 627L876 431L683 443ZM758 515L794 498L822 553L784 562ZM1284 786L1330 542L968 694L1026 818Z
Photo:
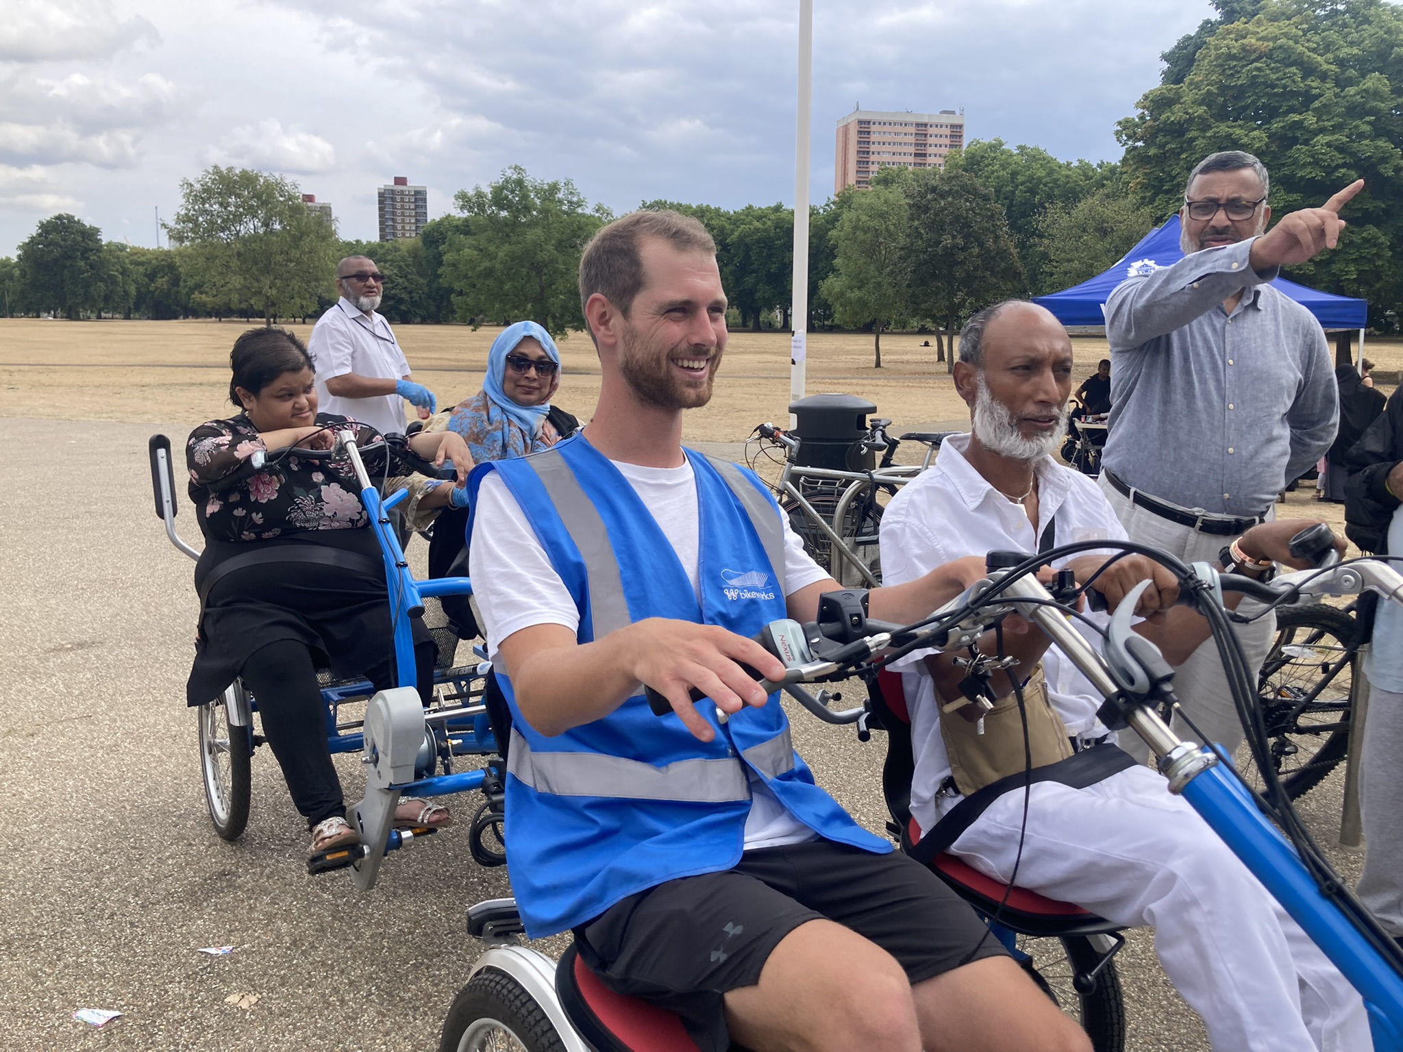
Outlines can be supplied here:
M673 800L685 804L727 804L751 798L739 760L678 760L654 767L640 760L596 752L532 752L513 728L506 770L537 793L557 797L619 797Z

